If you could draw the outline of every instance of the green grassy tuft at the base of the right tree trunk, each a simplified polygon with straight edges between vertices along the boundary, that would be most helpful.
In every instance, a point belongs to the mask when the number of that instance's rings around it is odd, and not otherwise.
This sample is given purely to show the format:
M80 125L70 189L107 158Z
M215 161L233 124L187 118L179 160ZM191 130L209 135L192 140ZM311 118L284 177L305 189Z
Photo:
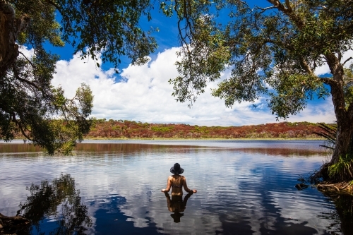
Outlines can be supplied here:
M353 156L340 156L339 160L328 167L330 179L338 179L345 181L353 178Z

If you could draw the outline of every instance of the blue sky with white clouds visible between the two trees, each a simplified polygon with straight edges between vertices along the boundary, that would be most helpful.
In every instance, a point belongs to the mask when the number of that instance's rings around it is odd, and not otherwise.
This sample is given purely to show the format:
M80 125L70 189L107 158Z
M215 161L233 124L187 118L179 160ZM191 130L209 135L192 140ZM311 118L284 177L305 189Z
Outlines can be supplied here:
M255 1L249 2L251 4ZM98 119L189 123L199 126L243 126L276 122L276 116L268 109L265 97L256 102L256 108L248 102L235 104L232 109L225 107L222 100L210 95L210 89L215 88L217 82L210 83L206 92L198 97L191 108L188 107L189 103L176 102L168 80L178 75L174 66L179 47L177 21L158 14L157 8L154 11L150 24L160 28L160 32L154 33L159 47L150 55L148 64L132 66L127 58L123 58L119 67L121 73L116 76L111 64L97 68L93 61L81 60L78 54L74 55L73 48L68 44L63 48L48 46L48 49L61 56L56 64L53 85L61 85L68 97L73 96L80 83L90 85L95 96L92 116ZM32 53L28 49L23 51ZM353 52L348 52L343 60L352 55ZM222 78L227 78L228 73L225 71ZM328 73L328 66L318 68L316 73ZM331 97L309 101L306 109L296 116L290 116L287 121L335 121Z

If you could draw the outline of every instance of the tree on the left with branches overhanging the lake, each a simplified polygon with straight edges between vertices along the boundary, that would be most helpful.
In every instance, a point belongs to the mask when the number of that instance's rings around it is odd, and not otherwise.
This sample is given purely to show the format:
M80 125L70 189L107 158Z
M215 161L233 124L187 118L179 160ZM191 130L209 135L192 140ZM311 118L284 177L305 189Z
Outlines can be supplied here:
M138 25L150 19L149 8L148 0L0 0L0 139L20 131L49 154L70 152L89 131L93 96L85 84L72 99L51 85L59 56L44 44L66 42L82 58L100 56L116 68L121 56L143 64L157 47Z

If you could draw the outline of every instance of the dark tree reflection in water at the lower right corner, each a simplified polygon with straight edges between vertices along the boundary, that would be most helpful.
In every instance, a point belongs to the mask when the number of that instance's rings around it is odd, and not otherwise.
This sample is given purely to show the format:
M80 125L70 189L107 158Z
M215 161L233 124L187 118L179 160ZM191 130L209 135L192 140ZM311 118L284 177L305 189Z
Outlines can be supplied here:
M353 196L352 195L333 195L323 193L328 196L335 204L336 210L322 213L318 217L332 221L327 229L332 234L352 234L353 228Z

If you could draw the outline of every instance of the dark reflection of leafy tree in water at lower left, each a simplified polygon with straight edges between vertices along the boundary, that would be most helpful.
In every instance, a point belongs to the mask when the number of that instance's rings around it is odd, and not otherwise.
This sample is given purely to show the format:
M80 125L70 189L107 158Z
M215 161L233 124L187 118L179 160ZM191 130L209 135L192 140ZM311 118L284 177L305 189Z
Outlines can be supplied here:
M40 232L40 223L46 217L54 217L56 226L49 234L84 234L86 227L92 225L88 217L88 207L81 204L80 192L75 188L75 180L70 174L63 175L59 179L54 179L52 183L42 181L40 185L32 183L28 187L30 196L23 203L20 203L20 210L17 216L30 219L31 225L34 225L38 234ZM58 207L61 206L61 212ZM17 234L30 234L33 227L26 227Z

